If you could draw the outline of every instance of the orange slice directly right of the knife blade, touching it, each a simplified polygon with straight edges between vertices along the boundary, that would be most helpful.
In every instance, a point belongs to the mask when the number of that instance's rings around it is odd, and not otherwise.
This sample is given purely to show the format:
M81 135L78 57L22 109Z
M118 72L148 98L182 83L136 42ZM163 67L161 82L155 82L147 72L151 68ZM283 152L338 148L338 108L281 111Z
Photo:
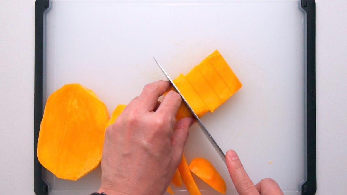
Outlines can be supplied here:
M178 75L178 77L175 78L174 83L198 117L203 116L206 112L209 111L209 108L206 106L201 97L196 93L194 87L189 83L189 81L183 74ZM181 107L184 107L184 109L186 110L180 110L177 113L182 113L181 116L188 115L189 110L185 108L185 105L181 105ZM188 116L191 116L190 112Z

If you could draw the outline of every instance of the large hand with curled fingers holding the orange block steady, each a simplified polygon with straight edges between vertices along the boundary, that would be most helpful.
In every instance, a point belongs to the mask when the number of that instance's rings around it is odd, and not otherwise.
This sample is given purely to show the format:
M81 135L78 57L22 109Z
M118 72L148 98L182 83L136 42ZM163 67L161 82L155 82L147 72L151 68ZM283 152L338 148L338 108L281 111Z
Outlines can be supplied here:
M167 81L148 84L105 132L99 193L163 194L181 160L194 119L175 123L181 96Z

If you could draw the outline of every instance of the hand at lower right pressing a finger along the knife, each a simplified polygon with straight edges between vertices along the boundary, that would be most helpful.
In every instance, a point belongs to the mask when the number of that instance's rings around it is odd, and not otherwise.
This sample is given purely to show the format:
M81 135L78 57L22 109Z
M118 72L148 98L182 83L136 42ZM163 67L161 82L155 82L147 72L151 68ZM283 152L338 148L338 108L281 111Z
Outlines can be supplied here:
M262 179L259 183L254 185L234 150L229 150L226 153L226 163L231 180L240 195L283 194L276 181L270 178Z

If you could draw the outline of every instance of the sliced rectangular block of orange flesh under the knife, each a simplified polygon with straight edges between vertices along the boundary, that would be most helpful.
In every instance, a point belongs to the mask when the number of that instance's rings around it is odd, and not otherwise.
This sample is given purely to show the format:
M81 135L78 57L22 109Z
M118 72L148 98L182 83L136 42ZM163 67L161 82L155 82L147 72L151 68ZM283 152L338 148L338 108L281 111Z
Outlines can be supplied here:
M242 87L218 50L201 61L187 75L180 74L174 83L198 117L202 117L207 111L213 112ZM192 114L185 104L181 103L176 119L188 116Z

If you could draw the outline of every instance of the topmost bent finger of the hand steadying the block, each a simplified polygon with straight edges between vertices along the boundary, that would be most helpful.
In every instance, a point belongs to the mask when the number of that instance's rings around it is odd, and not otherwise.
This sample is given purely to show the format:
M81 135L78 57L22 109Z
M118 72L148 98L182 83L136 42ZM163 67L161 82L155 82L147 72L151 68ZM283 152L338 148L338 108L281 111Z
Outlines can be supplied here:
M160 96L162 96L170 87L170 83L165 80L145 85L141 94L138 96L137 105L146 111L153 111Z

